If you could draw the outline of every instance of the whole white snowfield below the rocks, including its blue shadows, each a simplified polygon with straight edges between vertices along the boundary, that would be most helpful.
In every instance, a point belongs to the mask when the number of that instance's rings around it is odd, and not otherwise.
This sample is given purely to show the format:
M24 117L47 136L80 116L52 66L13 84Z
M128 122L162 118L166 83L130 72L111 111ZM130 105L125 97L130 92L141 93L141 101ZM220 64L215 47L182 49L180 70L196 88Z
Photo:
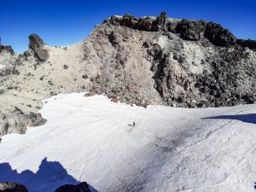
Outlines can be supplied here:
M30 192L82 181L111 192L256 191L256 104L142 108L73 93L40 113L46 125L2 137L0 182Z

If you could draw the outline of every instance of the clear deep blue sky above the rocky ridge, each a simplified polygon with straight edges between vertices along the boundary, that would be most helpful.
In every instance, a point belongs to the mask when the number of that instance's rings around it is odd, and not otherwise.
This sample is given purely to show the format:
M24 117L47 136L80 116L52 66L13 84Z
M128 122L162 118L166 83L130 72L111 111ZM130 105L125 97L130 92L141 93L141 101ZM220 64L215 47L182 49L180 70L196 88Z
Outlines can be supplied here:
M215 21L238 38L256 39L256 0L0 0L2 44L27 49L38 33L49 45L77 43L110 15L159 15Z

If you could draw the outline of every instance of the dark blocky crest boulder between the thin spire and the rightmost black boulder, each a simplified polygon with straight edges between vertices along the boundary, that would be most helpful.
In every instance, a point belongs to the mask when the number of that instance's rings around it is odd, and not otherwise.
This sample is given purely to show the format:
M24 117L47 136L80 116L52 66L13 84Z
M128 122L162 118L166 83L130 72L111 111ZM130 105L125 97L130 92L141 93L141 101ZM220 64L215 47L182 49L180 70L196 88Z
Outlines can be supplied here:
M180 34L180 38L197 41L204 37L206 26L204 20L181 20L175 31Z

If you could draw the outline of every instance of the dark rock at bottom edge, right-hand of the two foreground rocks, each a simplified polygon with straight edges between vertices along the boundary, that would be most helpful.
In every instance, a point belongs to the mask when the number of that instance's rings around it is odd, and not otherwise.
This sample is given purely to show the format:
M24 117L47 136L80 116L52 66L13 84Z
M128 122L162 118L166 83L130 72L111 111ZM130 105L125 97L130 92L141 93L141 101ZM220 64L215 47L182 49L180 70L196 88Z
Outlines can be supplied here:
M90 189L86 182L82 182L77 185L65 184L56 189L55 192L90 192Z

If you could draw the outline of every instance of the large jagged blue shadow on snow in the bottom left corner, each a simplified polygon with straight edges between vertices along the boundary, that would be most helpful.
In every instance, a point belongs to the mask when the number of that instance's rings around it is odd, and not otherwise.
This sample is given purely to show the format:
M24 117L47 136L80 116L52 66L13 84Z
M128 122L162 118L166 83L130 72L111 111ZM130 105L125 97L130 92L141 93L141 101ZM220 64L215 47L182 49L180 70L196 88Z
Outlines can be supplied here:
M42 160L38 172L33 173L26 170L18 173L13 170L9 163L0 164L0 183L14 182L26 186L28 191L32 192L53 192L64 184L78 184L74 177L68 175L66 169L57 161ZM90 186L92 192L96 192Z

